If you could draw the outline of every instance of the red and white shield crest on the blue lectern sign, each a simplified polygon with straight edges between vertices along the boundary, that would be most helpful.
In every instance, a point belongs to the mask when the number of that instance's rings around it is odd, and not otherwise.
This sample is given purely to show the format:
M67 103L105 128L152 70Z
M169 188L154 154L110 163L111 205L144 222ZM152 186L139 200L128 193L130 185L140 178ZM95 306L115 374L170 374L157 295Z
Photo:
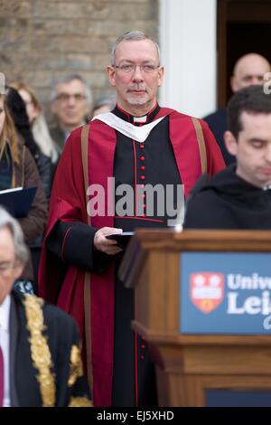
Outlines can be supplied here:
M197 308L209 314L220 305L224 297L224 275L206 272L192 273L190 297Z

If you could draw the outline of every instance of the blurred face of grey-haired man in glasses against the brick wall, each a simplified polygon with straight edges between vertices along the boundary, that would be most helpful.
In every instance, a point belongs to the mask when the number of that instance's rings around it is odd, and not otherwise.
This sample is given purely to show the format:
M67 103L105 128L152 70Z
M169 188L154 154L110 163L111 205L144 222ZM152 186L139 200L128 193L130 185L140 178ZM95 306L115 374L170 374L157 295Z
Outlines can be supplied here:
M80 80L58 84L56 99L51 105L52 113L58 118L61 127L76 128L84 123L89 113L84 85Z

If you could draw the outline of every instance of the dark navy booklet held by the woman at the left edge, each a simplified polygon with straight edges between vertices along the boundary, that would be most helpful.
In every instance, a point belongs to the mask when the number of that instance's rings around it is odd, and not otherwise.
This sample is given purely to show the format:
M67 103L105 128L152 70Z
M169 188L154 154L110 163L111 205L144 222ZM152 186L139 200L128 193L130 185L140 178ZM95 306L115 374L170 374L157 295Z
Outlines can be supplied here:
M15 187L14 189L0 191L0 205L4 206L15 218L26 217L33 203L36 190L36 186L33 186Z

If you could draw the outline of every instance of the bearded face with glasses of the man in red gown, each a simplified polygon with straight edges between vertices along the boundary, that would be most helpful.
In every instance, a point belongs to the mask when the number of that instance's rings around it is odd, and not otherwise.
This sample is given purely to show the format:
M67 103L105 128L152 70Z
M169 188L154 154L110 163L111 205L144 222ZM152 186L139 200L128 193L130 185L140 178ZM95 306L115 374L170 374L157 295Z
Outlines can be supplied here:
M108 66L108 78L117 90L117 104L130 112L132 109L152 109L156 93L163 80L164 69L159 67L158 52L150 40L123 41L117 45L117 68ZM126 72L127 65L137 65ZM143 69L138 65L149 65ZM147 71L145 71L147 70ZM132 112L133 113L133 112Z

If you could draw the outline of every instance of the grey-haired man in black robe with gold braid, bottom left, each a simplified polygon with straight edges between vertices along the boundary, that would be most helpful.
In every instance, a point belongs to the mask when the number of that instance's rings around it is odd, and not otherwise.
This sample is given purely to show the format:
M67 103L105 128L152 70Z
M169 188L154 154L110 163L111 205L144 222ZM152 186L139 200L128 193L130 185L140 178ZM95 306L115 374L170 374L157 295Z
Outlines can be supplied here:
M75 322L13 290L27 258L20 225L0 207L0 406L90 406Z

